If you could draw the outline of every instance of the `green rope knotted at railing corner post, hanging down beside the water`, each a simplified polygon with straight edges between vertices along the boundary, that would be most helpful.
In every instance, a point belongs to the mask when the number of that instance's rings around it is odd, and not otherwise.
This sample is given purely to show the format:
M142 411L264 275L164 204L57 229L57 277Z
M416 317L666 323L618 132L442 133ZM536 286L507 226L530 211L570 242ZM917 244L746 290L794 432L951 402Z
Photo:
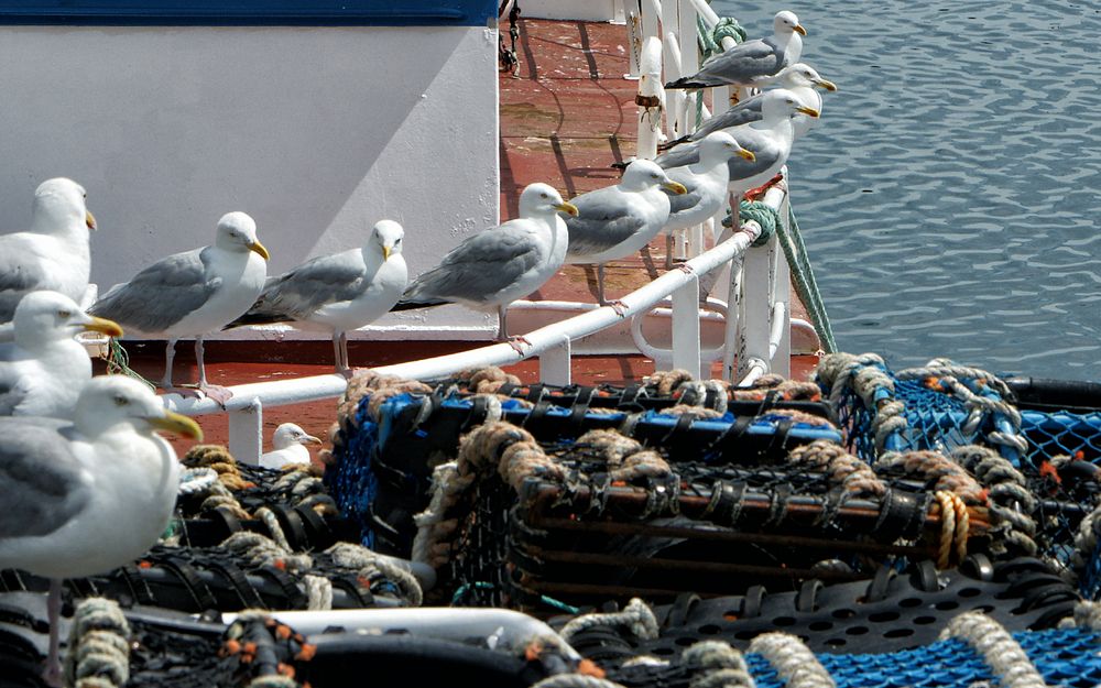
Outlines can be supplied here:
M815 271L810 266L807 258L807 247L803 242L803 233L799 231L799 223L795 220L795 211L791 204L787 207L787 225L781 221L780 212L771 206L760 201L743 200L738 208L742 222L753 220L761 226L761 236L757 237L753 245L761 247L768 242L773 234L778 233L780 245L784 250L787 265L792 271L792 283L799 301L807 307L807 315L810 316L810 324L821 340L822 349L827 353L837 351L837 342L833 340L833 328L829 323L829 315L826 313L826 304L822 302L821 293L818 291L818 282L815 280ZM722 220L723 227L730 227L730 214Z

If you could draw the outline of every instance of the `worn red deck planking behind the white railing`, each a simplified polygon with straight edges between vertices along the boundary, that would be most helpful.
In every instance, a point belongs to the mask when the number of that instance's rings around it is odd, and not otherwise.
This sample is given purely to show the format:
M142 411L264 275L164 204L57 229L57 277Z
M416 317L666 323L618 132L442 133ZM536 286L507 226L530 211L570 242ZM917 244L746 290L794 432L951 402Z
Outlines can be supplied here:
M522 20L516 53L517 76L502 74L501 89L501 216L516 214L524 186L546 182L566 197L614 184L619 172L611 163L634 155L637 133L637 81L628 73L626 33L623 26L578 22ZM639 256L609 263L609 296L635 290L663 272L664 240L655 241ZM533 299L595 301L592 269L567 266ZM796 308L798 306L796 305ZM798 310L796 312L798 315ZM373 367L461 351L483 342L378 342L353 341L349 354L353 365ZM161 342L128 345L131 365L151 380L161 378L164 349ZM177 382L196 378L189 342L177 346ZM226 386L290 376L331 372L333 349L328 340L317 342L209 342L206 346L210 383ZM815 357L793 358L793 374L805 376ZM509 368L524 382L535 382L538 361ZM639 356L584 357L575 359L574 380L580 384L621 383L639 380L653 371L653 361ZM718 376L718 367L712 369ZM264 441L280 423L294 422L312 435L327 438L335 419L336 402L324 401L292 407L264 409ZM226 444L225 416L199 418L205 441ZM190 443L176 440L178 450Z

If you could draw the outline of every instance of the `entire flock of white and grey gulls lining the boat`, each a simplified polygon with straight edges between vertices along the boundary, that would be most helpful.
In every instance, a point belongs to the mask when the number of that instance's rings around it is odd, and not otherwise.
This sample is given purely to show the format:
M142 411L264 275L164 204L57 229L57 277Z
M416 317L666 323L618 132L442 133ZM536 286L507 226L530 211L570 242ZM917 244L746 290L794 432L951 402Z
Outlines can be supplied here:
M288 323L331 334L336 372L348 374L347 334L391 310L460 304L497 312L509 338L509 305L538 290L565 264L603 267L662 231L715 216L728 195L770 181L794 141L822 108L816 89L836 90L799 61L806 30L780 12L774 34L737 45L667 88L778 86L717 114L656 161L626 165L612 186L570 201L546 184L520 197L519 217L462 241L412 283L403 228L381 220L362 247L268 275L270 253L255 221L240 211L218 220L214 242L144 267L90 303L87 193L72 179L42 183L26 231L0 236L0 568L50 577L51 656L56 682L61 579L102 572L140 556L163 532L175 500L178 465L154 433L200 438L144 385L121 375L92 378L80 331L120 337L126 329L166 339L161 386L173 386L177 340L193 338L198 390L211 385L203 339L244 325ZM737 207L737 204L734 204ZM737 218L735 218L737 220ZM614 304L614 302L611 302ZM293 424L280 426L263 465L309 460L319 444Z

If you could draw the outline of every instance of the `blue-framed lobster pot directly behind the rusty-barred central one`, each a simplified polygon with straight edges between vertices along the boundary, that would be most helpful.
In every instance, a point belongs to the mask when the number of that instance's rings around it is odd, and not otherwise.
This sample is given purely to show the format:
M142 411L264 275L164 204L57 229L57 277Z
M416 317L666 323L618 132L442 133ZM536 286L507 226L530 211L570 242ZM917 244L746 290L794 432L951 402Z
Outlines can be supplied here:
M434 385L369 381L349 394L325 483L360 525L364 545L411 556L414 515L428 506L433 471L456 458L460 437L497 419L549 447L569 446L589 430L618 430L675 462L771 463L792 447L841 440L826 404L791 394L733 398L721 383L690 380L672 391L657 383L555 387L512 380L501 373L489 384L477 375Z

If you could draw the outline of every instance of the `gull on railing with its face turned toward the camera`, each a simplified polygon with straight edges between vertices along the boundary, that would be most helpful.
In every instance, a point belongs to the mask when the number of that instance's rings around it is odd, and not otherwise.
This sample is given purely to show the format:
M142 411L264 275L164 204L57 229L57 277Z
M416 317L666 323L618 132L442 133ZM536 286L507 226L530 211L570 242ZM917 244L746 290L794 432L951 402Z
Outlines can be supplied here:
M326 329L333 334L336 371L347 373L348 330L385 315L405 288L404 234L397 222L381 220L363 248L315 258L269 277L252 308L226 327L290 321L301 329Z

